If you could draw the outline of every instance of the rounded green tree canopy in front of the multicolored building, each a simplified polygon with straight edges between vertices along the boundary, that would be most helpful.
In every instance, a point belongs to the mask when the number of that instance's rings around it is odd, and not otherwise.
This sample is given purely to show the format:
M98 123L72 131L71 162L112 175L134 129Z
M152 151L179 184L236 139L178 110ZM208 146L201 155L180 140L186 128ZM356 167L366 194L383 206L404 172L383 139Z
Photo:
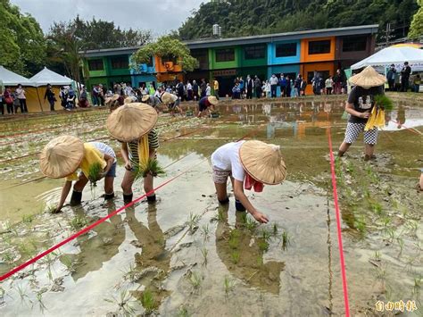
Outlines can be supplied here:
M137 69L137 64L149 63L154 55L176 61L183 71L194 71L198 67L198 61L191 56L188 47L177 38L170 36L158 38L157 42L138 49L132 54L132 67Z

